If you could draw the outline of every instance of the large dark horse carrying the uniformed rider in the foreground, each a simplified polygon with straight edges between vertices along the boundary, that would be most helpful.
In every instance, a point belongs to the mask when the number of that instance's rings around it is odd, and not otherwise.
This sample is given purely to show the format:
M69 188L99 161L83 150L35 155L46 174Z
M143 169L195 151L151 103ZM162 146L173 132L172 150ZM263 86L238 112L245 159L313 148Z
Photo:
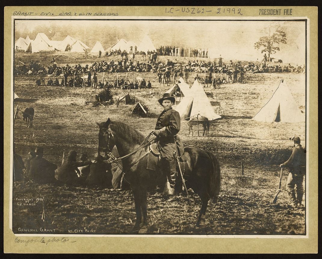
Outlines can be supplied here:
M157 166L155 170L147 169L148 156L145 154L147 154L148 147L142 148L142 143L146 141L145 137L122 122L112 122L108 119L106 122L97 124L99 125L98 151L105 159L110 158L108 154L114 146L116 146L120 157L137 150L122 159L122 167L125 179L131 185L134 196L137 221L133 231L137 232L141 227L147 228L147 188L154 181L156 175L161 172ZM219 195L219 163L211 152L193 146L185 147L185 155L187 158L187 161L184 162L186 187L191 187L202 201L196 225L204 227L208 201L212 199L213 202L216 202ZM157 159L156 156L149 154L149 163L153 162L152 160L156 162Z

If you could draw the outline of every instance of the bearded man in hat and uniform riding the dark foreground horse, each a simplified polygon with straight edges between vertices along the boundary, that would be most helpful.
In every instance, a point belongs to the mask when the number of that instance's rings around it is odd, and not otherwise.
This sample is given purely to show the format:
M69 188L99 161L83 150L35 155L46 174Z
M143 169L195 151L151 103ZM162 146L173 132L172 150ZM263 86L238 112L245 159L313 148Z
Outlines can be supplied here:
M169 93L165 93L158 102L163 106L164 110L159 115L153 134L157 137L157 147L160 152L162 170L168 179L167 182L170 184L170 187L168 187L168 183L166 183L163 195L172 196L175 191L176 177L174 151L180 157L181 162L186 160L184 147L177 135L180 131L180 114L172 109L175 97Z

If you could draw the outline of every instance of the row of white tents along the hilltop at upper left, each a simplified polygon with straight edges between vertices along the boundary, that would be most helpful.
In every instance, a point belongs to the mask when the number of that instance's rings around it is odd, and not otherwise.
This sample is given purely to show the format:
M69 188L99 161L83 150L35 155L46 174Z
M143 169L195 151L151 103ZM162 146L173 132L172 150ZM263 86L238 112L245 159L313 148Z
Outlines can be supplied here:
M121 50L129 52L131 47L133 51L135 47L137 47L138 51L156 51L155 46L153 45L150 37L146 35L140 44L136 44L133 41L126 41L124 39L118 40L115 44L110 46L106 51L115 51ZM14 43L14 49L25 51L25 52L42 52L42 51L71 51L71 52L85 52L90 51L90 47L88 47L85 43L80 40L76 40L75 38L67 35L66 38L62 41L52 41L50 40L46 34L38 33L34 40L31 40L29 36L26 39L20 37ZM105 53L102 44L97 41L90 53Z

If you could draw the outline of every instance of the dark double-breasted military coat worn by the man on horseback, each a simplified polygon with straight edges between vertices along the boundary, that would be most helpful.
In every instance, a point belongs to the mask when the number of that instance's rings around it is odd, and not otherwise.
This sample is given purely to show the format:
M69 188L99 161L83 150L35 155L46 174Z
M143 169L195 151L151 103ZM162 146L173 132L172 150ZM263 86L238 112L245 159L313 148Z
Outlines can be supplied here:
M173 157L173 152L176 151L181 160L185 161L184 147L177 135L180 131L179 112L172 108L162 111L156 122L156 129L160 130L158 149L161 157Z

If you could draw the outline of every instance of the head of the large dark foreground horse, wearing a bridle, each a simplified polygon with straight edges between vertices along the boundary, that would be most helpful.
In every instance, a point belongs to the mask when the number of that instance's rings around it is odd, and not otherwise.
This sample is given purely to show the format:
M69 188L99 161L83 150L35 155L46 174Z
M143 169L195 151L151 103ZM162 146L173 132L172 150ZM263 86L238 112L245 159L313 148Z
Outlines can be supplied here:
M112 152L112 149L115 146L114 135L111 128L109 127L111 120L108 118L106 122L98 123L99 126L99 154L108 159L108 153Z

